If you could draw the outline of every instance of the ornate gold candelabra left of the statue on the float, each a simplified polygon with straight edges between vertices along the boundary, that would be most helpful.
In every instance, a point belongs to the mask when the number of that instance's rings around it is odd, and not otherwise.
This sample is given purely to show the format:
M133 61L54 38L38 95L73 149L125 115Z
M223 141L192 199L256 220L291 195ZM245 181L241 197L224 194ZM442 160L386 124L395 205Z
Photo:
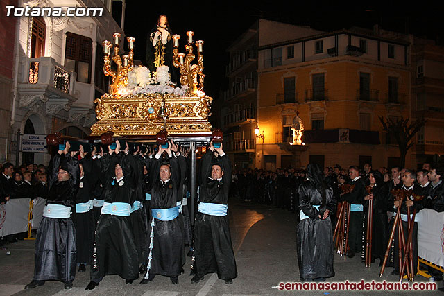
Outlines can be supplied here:
M114 55L112 56L112 61L117 65L117 69L111 69L111 60L110 54L112 49L112 44L108 40L102 42L103 44L103 73L106 76L112 77L112 83L108 89L108 92L112 95L118 95L119 87L126 87L128 85L128 72L133 70L134 62L133 62L133 49L134 49L134 37L127 37L128 40L128 48L130 49L130 53L128 55L123 55L122 57L119 55L119 37L120 33L114 33Z

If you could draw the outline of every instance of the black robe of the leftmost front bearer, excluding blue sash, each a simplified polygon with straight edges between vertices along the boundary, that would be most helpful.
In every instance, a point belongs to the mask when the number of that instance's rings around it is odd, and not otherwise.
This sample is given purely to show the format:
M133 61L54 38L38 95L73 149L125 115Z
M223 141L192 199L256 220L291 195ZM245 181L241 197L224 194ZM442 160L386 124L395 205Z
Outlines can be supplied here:
M57 180L59 166L67 166L71 177ZM78 159L56 154L49 171L49 193L46 204L71 207L74 212L74 194L78 185ZM66 167L65 167L66 168ZM43 217L35 239L34 280L73 281L76 275L76 229L71 218Z

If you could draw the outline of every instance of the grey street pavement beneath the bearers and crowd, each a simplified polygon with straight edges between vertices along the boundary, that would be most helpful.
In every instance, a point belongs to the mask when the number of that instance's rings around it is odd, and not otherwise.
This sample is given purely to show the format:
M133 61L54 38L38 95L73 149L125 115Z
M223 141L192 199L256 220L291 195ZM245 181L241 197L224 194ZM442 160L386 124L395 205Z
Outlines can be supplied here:
M87 272L77 272L74 287L64 290L58 281L47 281L44 286L24 290L33 278L34 241L19 241L6 245L0 251L0 296L3 295L131 295L131 296L178 296L178 295L377 295L377 291L334 291L334 290L279 290L280 282L299 282L296 255L296 214L272 206L254 202L230 200L230 229L236 255L238 277L227 285L217 275L206 275L198 284L191 284L189 276L191 258L187 257L185 273L179 277L179 284L173 285L168 277L157 275L154 281L142 285L139 281L125 284L118 276L106 276L94 290L85 290L89 283ZM7 252L10 251L8 255ZM348 259L334 254L336 276L327 282L346 281L390 281L398 277L390 275L392 268L386 268L379 278L379 260L365 268L361 258ZM428 282L416 276L416 282ZM440 283L437 283L441 285ZM386 291L391 295L413 295L418 291ZM437 290L421 292L421 295L440 295ZM444 295L444 294L443 294Z

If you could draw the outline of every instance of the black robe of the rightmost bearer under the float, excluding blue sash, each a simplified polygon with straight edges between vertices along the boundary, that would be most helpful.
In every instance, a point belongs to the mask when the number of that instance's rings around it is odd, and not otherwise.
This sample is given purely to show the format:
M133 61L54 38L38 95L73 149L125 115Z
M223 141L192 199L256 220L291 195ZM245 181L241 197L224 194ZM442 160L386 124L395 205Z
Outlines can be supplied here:
M228 204L232 179L230 159L218 157L223 170L221 182L210 179L213 153L207 150L200 163L200 202ZM219 279L237 277L228 215L212 216L198 212L194 225L193 271L197 277L217 272Z

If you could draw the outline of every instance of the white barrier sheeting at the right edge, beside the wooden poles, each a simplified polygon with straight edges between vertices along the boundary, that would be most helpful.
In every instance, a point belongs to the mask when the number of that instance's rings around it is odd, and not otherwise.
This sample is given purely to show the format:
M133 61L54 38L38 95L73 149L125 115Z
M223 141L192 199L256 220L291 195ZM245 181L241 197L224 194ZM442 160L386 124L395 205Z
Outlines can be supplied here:
M418 256L444 267L444 212L423 209L418 215Z

